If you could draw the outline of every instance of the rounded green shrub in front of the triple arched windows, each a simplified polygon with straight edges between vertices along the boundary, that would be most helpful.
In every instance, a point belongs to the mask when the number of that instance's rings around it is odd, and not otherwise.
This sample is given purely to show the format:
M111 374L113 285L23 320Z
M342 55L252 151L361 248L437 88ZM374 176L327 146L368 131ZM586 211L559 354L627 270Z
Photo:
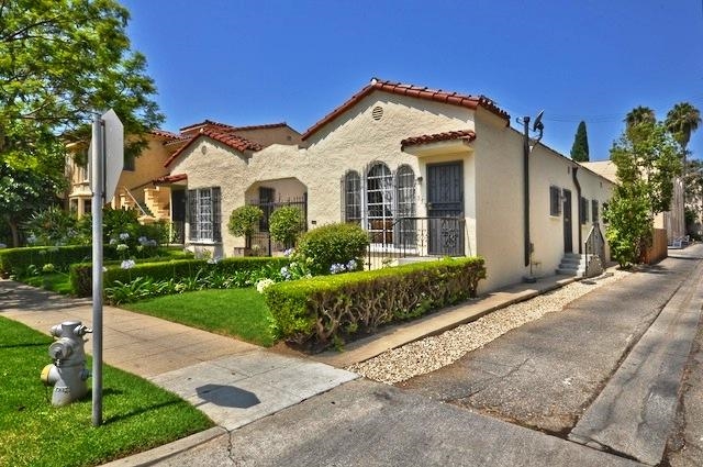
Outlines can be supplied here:
M362 265L369 245L368 233L357 224L327 224L301 235L298 253L306 258L314 276L330 274L333 265L354 259Z

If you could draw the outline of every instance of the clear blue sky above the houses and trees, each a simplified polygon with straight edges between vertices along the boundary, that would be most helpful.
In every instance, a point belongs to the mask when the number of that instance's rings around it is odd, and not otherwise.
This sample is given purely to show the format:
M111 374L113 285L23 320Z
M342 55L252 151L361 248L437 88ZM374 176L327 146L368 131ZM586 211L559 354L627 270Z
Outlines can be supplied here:
M165 130L204 119L300 132L371 77L545 111L568 155L585 120L609 158L636 105L703 110L703 0L121 0ZM703 157L703 129L691 140Z

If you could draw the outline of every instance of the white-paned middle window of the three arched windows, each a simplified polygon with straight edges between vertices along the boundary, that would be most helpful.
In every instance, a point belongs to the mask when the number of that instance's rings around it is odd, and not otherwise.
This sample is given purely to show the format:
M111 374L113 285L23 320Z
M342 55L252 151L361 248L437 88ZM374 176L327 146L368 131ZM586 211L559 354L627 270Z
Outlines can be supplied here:
M372 243L393 242L393 176L383 163L376 163L366 175L368 231Z

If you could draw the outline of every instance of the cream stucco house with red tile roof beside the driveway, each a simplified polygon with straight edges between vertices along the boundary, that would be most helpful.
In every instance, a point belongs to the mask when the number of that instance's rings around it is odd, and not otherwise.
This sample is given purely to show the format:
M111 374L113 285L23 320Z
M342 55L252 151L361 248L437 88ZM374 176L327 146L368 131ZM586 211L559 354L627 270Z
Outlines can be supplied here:
M483 96L373 79L298 144L202 131L159 182L187 193L192 248L234 255L244 240L227 233L233 209L303 200L308 229L357 222L379 257L481 255L489 291L584 253L614 186L542 144L526 167L510 122Z

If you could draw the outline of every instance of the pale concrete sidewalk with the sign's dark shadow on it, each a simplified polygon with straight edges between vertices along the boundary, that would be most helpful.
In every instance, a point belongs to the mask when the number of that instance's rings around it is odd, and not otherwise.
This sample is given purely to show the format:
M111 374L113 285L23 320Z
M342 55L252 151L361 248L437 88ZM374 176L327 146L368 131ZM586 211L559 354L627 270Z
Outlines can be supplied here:
M0 281L0 288L10 290L0 297L0 315L43 333L48 334L52 325L63 321L92 323L88 300L67 299L8 280ZM90 342L86 351L91 353ZM113 307L103 310L103 362L177 393L225 430L358 378L308 358L279 355Z

